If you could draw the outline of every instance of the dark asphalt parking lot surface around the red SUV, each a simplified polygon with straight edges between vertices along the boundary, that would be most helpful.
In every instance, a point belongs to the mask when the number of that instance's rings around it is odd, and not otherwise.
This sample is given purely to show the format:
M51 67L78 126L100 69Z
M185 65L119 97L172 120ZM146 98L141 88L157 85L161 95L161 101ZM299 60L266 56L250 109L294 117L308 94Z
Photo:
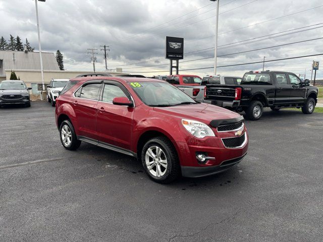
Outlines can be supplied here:
M61 145L49 103L0 109L0 241L322 241L323 114L265 109L233 169L170 185Z

